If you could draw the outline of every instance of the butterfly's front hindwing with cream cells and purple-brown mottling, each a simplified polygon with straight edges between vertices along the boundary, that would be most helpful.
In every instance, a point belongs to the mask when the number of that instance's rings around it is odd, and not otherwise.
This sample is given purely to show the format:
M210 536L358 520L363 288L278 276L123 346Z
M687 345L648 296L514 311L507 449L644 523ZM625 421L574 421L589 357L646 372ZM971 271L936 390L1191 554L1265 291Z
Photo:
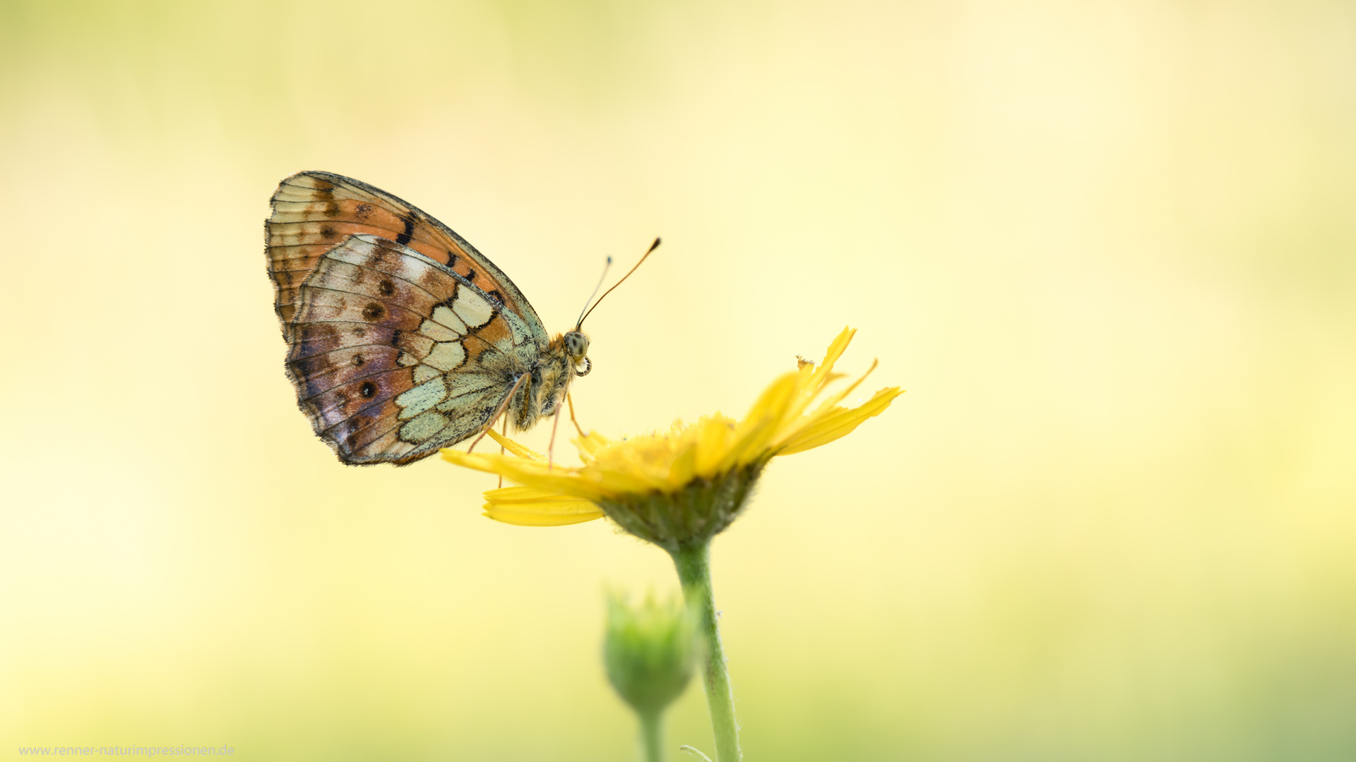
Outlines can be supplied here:
M481 431L541 354L526 320L384 237L321 254L293 304L287 374L346 464L405 464Z

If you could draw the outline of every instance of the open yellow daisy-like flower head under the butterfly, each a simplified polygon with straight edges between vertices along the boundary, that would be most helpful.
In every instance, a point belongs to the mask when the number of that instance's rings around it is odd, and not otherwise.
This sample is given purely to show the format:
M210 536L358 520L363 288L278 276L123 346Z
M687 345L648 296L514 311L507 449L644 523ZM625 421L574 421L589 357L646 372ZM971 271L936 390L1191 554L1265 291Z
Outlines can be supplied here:
M833 372L834 363L854 332L845 328L818 366L801 361L797 370L773 381L742 420L717 412L641 437L609 439L590 433L575 441L583 461L579 468L548 464L494 431L490 435L513 456L449 449L442 457L521 484L485 492L485 515L496 521L557 526L606 515L670 550L709 540L739 515L767 461L850 434L902 393L890 386L858 407L839 407L868 370L845 389L824 395L831 381L842 378Z

